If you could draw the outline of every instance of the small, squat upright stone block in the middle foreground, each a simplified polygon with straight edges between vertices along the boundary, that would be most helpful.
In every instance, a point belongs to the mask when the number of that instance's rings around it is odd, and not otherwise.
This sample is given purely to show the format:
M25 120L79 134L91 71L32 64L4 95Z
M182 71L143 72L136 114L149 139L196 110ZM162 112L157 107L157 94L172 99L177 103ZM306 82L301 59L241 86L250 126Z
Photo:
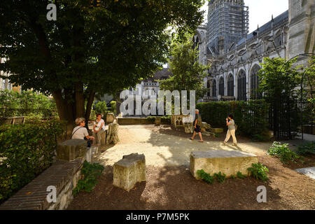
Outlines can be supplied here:
M146 158L144 154L124 155L113 166L113 185L128 192L136 183L146 181Z

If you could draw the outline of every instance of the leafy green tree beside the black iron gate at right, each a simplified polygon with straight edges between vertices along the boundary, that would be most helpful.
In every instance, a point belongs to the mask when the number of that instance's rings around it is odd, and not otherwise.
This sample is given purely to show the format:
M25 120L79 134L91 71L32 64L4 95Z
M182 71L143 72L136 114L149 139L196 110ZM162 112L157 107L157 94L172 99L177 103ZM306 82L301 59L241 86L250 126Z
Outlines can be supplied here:
M265 57L262 69L258 72L260 85L258 90L264 93L264 98L272 106L274 119L274 136L279 139L279 120L290 123L290 111L293 101L297 99L301 74L299 66L293 66L296 58L286 61L281 57L270 59ZM286 103L288 114L280 114L281 104ZM290 125L289 125L290 127ZM290 136L290 132L288 133Z

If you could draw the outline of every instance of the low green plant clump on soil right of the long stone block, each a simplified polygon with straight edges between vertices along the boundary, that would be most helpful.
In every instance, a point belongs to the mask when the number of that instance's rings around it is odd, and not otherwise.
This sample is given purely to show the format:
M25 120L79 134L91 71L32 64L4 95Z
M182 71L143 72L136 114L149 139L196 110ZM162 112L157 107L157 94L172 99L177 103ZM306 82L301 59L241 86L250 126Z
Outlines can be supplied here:
M277 141L274 141L267 154L280 158L283 163L288 163L288 161L297 162L297 160L302 161L302 158L297 153L290 151L288 144L281 144Z

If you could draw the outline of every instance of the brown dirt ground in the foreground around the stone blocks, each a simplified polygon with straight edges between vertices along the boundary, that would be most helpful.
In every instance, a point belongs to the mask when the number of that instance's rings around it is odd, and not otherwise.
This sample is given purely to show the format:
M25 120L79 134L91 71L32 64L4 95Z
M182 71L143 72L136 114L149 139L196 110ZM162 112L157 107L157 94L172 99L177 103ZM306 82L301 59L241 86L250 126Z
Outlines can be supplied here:
M129 193L113 186L113 168L106 167L92 193L80 193L68 209L315 209L314 180L267 155L259 160L269 168L268 182L248 177L207 184L185 166L148 166L147 181ZM267 203L257 202L258 186L267 188Z

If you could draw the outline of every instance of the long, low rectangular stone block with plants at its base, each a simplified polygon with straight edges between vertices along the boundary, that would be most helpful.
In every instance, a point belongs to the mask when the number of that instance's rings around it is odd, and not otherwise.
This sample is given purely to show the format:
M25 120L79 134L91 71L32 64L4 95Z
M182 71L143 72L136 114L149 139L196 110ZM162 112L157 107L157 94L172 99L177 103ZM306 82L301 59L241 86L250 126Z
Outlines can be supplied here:
M227 177L236 176L241 172L248 176L247 168L252 163L258 163L258 157L251 153L241 151L195 151L190 154L190 173L195 179L200 179L197 171L203 169L204 172L211 176L221 172Z

